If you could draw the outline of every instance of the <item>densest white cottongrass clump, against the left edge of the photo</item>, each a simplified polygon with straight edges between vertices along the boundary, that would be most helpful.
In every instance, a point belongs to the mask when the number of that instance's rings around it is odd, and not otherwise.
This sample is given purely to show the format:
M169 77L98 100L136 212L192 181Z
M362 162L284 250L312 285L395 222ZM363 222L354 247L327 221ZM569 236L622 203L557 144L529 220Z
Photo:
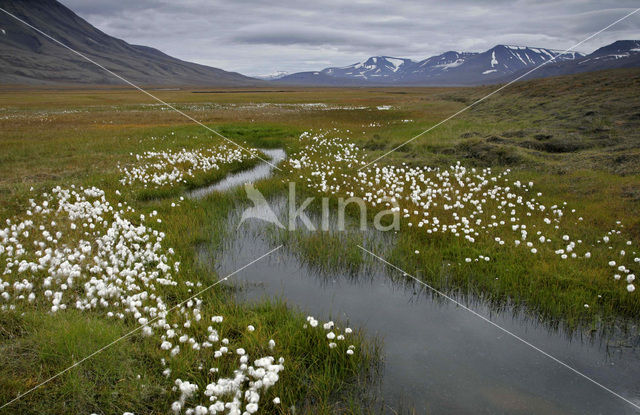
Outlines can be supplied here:
M141 324L163 316L166 305L155 292L177 284L180 263L144 215L114 206L95 187L56 187L29 205L27 219L7 219L0 229L0 309L42 300L52 313L102 309Z

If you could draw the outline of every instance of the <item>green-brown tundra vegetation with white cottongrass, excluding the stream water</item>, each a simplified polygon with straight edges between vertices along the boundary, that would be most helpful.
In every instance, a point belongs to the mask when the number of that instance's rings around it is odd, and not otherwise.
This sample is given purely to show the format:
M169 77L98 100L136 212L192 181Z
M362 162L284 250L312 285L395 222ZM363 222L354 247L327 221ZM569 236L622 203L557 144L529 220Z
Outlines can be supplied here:
M267 196L360 197L369 221L393 199L386 259L430 285L606 334L640 311L639 89L637 69L517 83L375 164L491 87L153 93L252 152L283 148ZM259 160L125 88L4 87L0 125L1 402L137 329L2 413L365 410L376 339L203 291L225 275L196 248L220 249L246 200L186 192ZM283 238L320 267L371 260L358 238Z

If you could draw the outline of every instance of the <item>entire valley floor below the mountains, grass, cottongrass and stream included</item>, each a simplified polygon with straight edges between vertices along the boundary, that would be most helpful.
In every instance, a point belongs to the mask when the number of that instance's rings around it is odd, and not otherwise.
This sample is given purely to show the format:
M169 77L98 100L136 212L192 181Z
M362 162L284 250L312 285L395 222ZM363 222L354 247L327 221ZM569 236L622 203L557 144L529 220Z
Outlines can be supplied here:
M137 91L2 87L2 401L126 337L0 412L634 413L408 275L636 402L639 86L521 82L390 154L491 87L153 91L237 145ZM295 183L400 228L239 227L245 180L282 223Z

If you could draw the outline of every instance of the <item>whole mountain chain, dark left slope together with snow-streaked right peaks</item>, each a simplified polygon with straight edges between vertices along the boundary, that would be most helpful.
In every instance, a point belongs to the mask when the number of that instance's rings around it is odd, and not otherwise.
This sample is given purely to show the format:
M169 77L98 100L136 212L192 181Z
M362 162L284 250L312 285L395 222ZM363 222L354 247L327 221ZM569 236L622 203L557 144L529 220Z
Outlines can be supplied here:
M421 61L374 56L344 67L247 77L186 62L109 36L56 0L0 0L0 7L141 85L309 86L479 85L526 78L640 66L640 41L620 40L588 55L497 45L484 52L449 51ZM553 62L551 62L553 60ZM531 74L532 68L549 62ZM0 83L121 84L122 81L0 12ZM260 78L260 79L257 79Z

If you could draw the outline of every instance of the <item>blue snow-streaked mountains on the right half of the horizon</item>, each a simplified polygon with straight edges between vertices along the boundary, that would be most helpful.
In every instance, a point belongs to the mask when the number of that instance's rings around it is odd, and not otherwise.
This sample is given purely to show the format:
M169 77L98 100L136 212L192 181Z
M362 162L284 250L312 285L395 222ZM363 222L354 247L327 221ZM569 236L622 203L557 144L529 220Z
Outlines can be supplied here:
M543 64L531 74L528 71ZM296 85L480 85L640 66L640 41L619 40L585 55L528 46L497 45L484 52L449 51L421 61L373 56L344 67L298 72L277 82Z

